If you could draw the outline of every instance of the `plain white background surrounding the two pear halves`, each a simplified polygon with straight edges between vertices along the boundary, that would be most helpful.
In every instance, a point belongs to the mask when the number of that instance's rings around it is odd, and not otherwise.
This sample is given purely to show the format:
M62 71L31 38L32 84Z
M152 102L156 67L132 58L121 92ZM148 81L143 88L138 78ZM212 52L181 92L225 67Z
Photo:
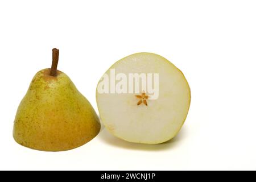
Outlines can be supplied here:
M255 1L1 1L0 169L256 169ZM59 69L97 111L96 85L117 60L154 52L183 71L191 109L179 135L128 143L102 126L75 150L14 142L13 121L32 77Z

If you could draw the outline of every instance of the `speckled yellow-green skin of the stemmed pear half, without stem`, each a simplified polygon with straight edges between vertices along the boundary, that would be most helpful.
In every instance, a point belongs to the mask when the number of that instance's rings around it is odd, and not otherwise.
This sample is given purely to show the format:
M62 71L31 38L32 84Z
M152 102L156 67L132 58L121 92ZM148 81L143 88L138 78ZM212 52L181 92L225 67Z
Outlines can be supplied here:
M92 105L65 75L36 73L20 102L13 137L22 146L42 151L65 151L96 137L100 122Z

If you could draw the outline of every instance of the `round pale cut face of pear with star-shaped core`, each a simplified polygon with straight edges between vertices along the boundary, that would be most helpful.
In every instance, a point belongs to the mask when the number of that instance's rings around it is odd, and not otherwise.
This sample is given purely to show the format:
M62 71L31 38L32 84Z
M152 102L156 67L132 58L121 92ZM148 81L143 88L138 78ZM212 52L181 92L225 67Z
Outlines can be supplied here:
M153 94L144 92L142 87L140 93L98 92L106 76L113 79L113 70L115 75L124 73L127 78L131 73L157 73L157 99L150 99ZM120 80L115 78L116 86ZM154 53L135 53L106 71L98 83L96 99L100 118L110 133L129 142L158 144L179 133L188 114L191 91L183 73L170 61Z

